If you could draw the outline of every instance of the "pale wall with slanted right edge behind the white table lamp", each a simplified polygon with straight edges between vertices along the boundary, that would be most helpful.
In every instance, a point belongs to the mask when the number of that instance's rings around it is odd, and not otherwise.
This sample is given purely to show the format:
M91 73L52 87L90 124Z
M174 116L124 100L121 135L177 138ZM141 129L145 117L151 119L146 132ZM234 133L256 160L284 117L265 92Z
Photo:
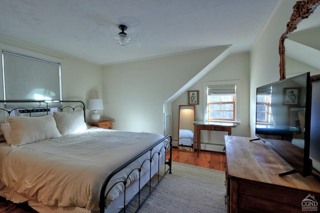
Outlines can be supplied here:
M208 48L104 66L103 116L115 119L117 130L163 134L163 103L224 50Z

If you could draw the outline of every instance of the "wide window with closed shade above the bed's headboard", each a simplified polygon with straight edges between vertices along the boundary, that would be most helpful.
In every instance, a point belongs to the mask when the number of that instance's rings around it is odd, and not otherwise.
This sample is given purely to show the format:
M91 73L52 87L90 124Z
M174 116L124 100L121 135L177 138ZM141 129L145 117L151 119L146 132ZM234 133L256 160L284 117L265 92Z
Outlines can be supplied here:
M4 100L61 100L61 65L2 50Z

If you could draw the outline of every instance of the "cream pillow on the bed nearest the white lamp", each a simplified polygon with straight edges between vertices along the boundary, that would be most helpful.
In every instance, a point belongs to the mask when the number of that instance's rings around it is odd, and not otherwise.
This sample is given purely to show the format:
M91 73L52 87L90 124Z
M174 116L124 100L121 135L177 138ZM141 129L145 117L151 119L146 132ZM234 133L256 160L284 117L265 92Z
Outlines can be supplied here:
M88 128L84 122L83 111L53 112L53 116L61 135L82 132Z

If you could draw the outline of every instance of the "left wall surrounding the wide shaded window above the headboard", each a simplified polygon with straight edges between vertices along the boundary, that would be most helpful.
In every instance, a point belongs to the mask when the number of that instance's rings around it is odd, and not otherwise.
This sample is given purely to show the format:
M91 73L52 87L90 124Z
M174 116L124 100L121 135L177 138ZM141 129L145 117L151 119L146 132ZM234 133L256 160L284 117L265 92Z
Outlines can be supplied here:
M102 98L100 65L8 37L0 37L0 48L61 63L63 100L80 100L87 105L88 99ZM2 75L0 78L0 98L3 99ZM90 113L86 111L86 115Z

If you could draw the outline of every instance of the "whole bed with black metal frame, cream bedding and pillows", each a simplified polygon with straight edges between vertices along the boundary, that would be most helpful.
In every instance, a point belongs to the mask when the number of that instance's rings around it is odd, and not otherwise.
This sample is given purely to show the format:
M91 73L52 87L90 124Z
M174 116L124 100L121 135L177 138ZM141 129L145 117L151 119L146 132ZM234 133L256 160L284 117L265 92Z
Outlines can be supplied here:
M151 177L158 176L155 188L171 173L171 136L87 127L81 101L0 103L0 196L13 203L38 212L125 212Z

